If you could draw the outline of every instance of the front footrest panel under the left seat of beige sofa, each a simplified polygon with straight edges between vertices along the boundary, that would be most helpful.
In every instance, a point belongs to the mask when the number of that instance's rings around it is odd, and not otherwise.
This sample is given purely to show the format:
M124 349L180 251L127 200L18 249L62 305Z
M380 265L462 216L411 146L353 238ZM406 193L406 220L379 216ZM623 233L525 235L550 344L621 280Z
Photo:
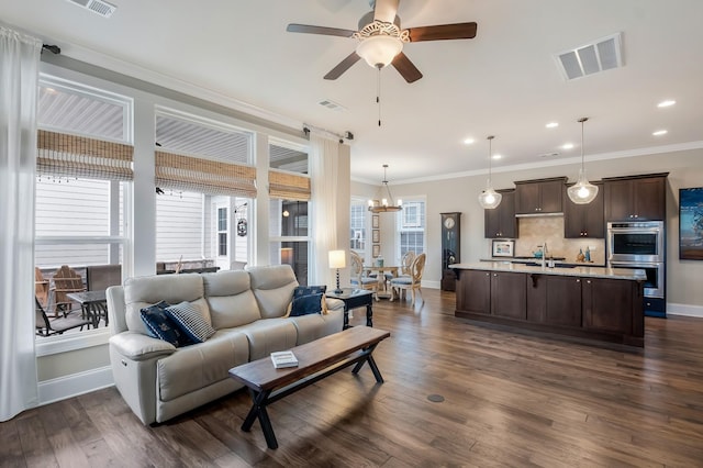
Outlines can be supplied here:
M245 335L216 332L207 342L179 348L157 361L158 399L170 401L231 379L228 370L248 359L249 345Z

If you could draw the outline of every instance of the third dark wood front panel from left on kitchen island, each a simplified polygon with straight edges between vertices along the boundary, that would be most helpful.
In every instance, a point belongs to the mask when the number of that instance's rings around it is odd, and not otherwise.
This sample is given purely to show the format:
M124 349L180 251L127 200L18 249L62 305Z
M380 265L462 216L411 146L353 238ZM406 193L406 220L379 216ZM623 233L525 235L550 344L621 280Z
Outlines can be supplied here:
M527 320L581 326L582 278L531 274L527 279Z

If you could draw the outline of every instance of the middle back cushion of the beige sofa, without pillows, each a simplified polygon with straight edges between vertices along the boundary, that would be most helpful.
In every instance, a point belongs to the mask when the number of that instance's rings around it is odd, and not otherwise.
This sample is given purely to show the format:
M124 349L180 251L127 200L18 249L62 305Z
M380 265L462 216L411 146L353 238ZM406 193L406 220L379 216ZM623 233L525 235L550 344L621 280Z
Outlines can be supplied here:
M261 317L246 271L204 274L202 279L214 328L246 325Z

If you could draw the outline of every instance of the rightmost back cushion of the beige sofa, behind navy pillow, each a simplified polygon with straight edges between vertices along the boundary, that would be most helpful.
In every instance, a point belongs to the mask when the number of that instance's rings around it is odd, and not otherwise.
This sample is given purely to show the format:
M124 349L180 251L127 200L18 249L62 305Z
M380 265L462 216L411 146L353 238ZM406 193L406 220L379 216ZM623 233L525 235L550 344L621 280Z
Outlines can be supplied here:
M274 265L247 269L252 279L252 290L259 304L263 319L281 317L298 286L290 265Z

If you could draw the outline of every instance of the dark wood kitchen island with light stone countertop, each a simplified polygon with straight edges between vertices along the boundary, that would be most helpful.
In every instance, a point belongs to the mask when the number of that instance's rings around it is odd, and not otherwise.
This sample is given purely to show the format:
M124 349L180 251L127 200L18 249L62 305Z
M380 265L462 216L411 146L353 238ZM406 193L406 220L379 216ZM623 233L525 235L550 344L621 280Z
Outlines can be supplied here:
M645 344L643 270L455 264L457 317L592 341Z

